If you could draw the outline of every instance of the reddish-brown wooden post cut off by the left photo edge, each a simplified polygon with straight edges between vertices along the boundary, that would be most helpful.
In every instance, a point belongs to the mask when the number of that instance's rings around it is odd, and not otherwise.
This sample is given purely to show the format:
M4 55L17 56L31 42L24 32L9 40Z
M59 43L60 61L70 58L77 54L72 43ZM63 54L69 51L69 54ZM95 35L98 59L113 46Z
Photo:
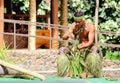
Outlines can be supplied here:
M0 0L0 19L4 19L4 0ZM4 31L4 22L0 22L0 33ZM3 34L0 34L0 47L3 44Z

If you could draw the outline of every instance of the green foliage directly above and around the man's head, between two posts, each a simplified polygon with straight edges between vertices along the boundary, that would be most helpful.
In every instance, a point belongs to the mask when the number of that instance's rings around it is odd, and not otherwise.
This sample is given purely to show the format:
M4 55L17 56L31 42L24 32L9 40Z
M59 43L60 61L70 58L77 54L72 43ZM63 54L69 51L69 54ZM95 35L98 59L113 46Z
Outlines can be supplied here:
M73 22L73 15L76 11L83 11L85 13L86 20L93 20L94 16L94 0L68 0L68 21ZM93 11L91 11L93 10Z

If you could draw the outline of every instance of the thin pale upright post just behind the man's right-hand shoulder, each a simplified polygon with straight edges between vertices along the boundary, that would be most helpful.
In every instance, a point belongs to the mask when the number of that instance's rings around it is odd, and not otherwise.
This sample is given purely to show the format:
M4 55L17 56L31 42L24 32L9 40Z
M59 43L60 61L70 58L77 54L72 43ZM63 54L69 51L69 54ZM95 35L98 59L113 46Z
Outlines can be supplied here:
M99 9L99 0L96 0L95 8L95 43L98 42L97 28L98 28L98 9Z

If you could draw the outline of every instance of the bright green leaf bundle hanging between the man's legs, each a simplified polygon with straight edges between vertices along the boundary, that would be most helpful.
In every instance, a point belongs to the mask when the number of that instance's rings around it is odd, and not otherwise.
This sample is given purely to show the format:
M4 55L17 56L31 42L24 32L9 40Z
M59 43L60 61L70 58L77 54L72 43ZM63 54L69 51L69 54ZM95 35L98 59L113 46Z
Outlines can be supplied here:
M84 61L82 54L79 50L76 52L70 51L70 55L67 55L70 60L69 73L70 77L80 77L83 72Z

